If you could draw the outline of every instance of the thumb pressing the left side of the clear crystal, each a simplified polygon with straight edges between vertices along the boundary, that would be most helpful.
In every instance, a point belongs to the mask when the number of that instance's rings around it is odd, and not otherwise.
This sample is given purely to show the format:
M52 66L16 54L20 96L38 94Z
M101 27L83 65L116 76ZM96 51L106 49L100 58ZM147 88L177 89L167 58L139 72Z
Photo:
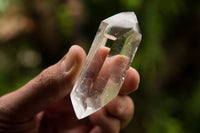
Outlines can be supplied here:
M0 98L0 119L25 121L69 95L85 61L79 46L22 88ZM3 118L1 118L3 117Z

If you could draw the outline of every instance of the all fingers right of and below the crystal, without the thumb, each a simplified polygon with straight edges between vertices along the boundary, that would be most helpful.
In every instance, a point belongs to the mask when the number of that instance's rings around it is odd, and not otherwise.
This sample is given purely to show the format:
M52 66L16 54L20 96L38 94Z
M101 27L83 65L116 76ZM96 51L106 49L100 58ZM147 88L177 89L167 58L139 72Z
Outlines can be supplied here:
M140 77L134 68L129 68L119 95L108 103L103 109L94 113L89 118L97 125L91 133L119 132L127 126L133 117L134 103L127 94L137 90ZM104 123L102 122L104 121ZM120 124L118 124L120 122Z

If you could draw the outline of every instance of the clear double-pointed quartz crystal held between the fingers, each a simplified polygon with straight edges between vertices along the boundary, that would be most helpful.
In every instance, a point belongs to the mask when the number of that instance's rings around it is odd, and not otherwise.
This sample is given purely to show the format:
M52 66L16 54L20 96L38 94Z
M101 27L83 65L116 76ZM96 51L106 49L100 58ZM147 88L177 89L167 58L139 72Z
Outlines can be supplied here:
M122 12L101 22L70 95L78 119L118 95L141 38L134 12Z

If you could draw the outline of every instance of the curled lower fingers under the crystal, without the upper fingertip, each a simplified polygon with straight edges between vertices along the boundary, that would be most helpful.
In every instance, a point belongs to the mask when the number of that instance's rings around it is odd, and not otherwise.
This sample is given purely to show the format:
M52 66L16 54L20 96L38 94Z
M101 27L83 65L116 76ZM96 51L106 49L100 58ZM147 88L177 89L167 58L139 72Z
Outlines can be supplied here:
M128 96L117 96L103 109L89 117L93 125L92 132L118 133L127 126L133 117L134 104Z

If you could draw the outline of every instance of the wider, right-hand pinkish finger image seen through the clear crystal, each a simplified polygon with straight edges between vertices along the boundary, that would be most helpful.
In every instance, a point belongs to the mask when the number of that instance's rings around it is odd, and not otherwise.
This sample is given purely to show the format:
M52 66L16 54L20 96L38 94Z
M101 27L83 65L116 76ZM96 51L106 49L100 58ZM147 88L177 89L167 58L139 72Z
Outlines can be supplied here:
M97 79L93 85L93 89L91 90L96 90L99 93L102 93L107 88L110 88L108 83L109 80L116 85L116 90L120 89L119 85L117 86L117 84L122 82L122 77L126 73L128 63L129 58L122 55L108 57L98 73Z

